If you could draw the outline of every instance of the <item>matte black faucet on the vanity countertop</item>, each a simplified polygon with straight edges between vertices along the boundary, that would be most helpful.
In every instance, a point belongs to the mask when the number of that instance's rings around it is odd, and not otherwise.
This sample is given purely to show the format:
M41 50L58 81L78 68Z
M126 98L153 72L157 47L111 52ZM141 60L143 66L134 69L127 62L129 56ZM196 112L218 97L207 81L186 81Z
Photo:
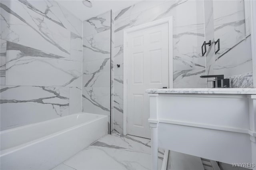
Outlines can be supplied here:
M224 79L224 75L201 75L200 77L201 78L215 77L214 81L212 81L212 88L228 88L229 87L229 79Z

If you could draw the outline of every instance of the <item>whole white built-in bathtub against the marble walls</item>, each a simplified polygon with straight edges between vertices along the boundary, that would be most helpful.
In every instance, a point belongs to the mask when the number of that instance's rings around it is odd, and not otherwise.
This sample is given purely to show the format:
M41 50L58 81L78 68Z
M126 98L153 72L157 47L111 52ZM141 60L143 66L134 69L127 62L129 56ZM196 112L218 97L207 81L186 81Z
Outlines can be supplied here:
M0 132L1 170L50 170L107 134L108 117L78 113Z

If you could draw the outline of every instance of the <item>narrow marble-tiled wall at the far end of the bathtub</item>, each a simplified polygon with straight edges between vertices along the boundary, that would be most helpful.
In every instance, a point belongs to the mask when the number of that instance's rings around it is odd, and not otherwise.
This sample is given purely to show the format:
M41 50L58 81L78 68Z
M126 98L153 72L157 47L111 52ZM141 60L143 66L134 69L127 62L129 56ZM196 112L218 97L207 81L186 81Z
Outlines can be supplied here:
M110 119L113 118L111 115L113 24L112 11L83 22L82 110L108 115L108 133L112 131L113 122Z

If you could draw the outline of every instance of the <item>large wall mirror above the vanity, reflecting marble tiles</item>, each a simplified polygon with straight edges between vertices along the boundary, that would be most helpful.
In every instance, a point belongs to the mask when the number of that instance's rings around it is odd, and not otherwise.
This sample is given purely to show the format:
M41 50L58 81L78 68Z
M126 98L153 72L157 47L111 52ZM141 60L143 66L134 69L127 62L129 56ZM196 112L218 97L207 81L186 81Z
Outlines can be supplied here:
M249 0L204 1L206 74L224 75L230 87L253 87ZM207 82L206 87L211 88Z

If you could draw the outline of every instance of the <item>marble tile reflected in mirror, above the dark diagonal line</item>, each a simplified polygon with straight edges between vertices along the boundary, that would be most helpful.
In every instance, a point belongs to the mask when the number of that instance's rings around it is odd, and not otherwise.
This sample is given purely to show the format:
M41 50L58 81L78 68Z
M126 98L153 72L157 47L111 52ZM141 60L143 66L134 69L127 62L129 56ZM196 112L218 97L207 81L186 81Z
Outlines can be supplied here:
M220 39L220 51L216 54L218 58L246 35L244 0L214 0L213 14L214 39Z

